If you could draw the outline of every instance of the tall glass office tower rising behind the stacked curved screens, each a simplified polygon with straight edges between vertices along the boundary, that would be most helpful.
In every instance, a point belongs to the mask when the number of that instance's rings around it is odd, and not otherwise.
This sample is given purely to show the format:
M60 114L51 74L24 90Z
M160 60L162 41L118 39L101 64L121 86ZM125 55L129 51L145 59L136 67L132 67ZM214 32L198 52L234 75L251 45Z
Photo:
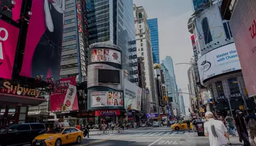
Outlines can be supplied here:
M125 78L138 84L132 0L86 0L89 43L110 41L122 49Z

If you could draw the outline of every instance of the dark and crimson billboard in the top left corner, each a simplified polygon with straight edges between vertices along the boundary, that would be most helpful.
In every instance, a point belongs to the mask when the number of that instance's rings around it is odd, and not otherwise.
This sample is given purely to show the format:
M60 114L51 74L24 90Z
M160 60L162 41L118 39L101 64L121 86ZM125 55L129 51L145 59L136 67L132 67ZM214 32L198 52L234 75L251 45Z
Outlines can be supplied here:
M12 5L12 1L10 0L0 0L0 8L3 8L3 6L7 6L10 8ZM12 18L13 20L17 21L20 18L20 10L22 6L22 0L15 0L14 7L12 8L12 11L0 11L0 14L5 15L6 17Z

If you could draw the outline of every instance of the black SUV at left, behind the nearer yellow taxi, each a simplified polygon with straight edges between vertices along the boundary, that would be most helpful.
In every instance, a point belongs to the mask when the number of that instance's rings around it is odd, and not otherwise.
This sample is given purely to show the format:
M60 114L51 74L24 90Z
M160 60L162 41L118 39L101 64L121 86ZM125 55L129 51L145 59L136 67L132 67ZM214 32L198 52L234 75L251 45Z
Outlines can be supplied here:
M32 140L47 130L44 124L24 123L12 124L0 127L0 145L23 145L29 144Z

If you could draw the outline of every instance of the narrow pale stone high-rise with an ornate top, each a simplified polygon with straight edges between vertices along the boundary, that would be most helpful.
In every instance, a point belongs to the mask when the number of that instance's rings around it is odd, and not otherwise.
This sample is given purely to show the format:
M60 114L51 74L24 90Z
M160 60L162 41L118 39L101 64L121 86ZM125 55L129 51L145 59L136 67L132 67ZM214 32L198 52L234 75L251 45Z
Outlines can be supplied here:
M150 29L147 24L147 13L142 6L133 5L134 26L136 33L137 56L142 57L145 65L146 87L149 90L150 102L154 112L159 111L156 80L154 80L154 68L152 47L150 41Z

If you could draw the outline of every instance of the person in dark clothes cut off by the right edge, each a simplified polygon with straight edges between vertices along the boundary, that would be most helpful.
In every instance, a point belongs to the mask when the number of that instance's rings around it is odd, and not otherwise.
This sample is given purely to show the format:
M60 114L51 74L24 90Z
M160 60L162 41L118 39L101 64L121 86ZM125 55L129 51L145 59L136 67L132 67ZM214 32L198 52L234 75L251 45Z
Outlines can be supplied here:
M249 130L250 130L250 139L253 146L256 146L256 143L254 141L254 138L256 136L256 115L254 110L249 111L250 114L245 117L245 121L248 124Z

